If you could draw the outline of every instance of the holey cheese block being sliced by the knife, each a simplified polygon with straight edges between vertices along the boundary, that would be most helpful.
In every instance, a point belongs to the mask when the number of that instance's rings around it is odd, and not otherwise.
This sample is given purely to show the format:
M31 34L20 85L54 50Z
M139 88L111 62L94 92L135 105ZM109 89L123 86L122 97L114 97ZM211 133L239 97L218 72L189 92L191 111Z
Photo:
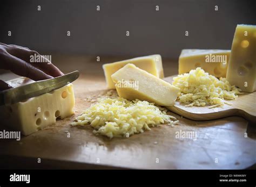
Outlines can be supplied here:
M70 116L74 113L74 106L75 96L73 85L70 83L24 102L0 106L0 120L3 125L1 128L6 127L20 131L23 135L29 135L55 123L56 118L63 119Z

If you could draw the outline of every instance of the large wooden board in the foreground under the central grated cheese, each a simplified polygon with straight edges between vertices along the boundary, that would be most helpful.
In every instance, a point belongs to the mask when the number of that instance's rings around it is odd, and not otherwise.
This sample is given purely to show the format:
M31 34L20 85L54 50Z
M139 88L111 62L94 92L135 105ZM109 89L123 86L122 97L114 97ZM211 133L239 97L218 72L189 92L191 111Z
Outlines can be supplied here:
M104 77L80 75L74 83L76 113L21 141L0 140L0 163L8 168L136 168L244 169L255 163L256 130L241 117L194 121L170 112L180 121L160 125L130 138L96 136L90 126L71 127L91 105L84 99L104 93ZM196 132L197 138L179 139L177 133ZM70 133L70 138L68 137ZM41 159L41 163L38 163Z

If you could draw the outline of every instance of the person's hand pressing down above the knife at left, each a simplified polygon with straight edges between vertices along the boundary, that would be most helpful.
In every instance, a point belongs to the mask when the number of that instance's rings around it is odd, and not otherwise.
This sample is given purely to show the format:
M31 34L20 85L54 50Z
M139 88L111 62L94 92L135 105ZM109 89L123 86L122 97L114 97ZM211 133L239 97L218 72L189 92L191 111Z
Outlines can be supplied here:
M34 81L64 75L62 71L43 56L41 56L44 60L43 62L30 62L31 55L40 54L26 47L0 43L0 69L10 70L19 76L28 77ZM0 90L8 88L11 87L0 80Z

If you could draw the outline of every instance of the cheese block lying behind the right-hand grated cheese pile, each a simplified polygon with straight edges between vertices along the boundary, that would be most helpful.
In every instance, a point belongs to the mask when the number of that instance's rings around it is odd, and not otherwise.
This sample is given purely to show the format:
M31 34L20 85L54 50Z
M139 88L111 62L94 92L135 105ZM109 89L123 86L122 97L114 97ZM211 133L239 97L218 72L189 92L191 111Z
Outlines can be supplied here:
M179 74L198 67L215 77L226 77L230 50L183 49L179 56Z

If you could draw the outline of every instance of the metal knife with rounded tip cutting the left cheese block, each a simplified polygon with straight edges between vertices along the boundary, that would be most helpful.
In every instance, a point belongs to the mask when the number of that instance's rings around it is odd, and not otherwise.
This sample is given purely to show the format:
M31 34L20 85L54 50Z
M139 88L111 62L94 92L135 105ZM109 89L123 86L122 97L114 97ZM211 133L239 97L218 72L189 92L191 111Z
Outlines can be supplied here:
M17 88L11 88L0 92L0 105L11 105L23 100L48 93L64 87L79 77L79 71L73 71L48 80L33 82Z

